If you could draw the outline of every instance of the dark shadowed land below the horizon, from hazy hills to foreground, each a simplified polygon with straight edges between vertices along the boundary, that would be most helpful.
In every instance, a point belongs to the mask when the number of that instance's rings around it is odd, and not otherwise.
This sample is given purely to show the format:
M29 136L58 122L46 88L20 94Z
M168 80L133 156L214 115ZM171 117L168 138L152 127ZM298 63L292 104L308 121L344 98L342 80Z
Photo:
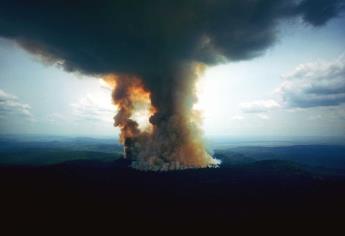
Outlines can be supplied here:
M343 154L342 146L238 147L216 150L220 168L143 172L110 140L0 139L2 224L334 222L345 211Z

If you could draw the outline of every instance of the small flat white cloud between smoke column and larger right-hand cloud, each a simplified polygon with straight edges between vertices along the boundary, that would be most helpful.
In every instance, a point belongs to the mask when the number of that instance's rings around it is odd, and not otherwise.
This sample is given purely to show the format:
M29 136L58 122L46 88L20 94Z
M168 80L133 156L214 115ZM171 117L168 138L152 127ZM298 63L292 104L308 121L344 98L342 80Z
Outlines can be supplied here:
M245 113L264 113L280 108L280 104L273 99L258 100L241 103L240 108Z

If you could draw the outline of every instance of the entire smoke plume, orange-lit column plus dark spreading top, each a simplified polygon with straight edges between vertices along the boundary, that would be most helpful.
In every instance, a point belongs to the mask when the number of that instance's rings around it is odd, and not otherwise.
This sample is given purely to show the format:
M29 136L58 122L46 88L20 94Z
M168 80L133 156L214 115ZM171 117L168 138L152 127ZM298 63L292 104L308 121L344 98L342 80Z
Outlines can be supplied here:
M3 0L0 36L67 71L112 75L115 125L134 167L206 167L216 162L192 118L204 65L258 56L280 21L321 26L343 8L343 0ZM133 91L149 94L150 131L132 119L141 97Z

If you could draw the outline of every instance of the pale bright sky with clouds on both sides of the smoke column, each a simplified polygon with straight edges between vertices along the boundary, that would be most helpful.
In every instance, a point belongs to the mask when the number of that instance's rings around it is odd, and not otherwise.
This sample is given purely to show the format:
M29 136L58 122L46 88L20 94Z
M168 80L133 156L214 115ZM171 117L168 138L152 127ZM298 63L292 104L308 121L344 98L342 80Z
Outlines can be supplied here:
M263 55L209 66L197 82L205 136L345 138L345 17L285 21ZM0 38L0 133L117 136L111 89Z

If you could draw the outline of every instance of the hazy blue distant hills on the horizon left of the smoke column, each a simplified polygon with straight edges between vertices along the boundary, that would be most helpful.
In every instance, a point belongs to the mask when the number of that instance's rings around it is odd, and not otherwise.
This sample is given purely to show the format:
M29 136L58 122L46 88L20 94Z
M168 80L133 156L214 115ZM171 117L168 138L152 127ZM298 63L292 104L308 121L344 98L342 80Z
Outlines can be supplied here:
M113 161L122 157L122 146L90 138L61 140L0 139L0 165L43 166L70 160Z

